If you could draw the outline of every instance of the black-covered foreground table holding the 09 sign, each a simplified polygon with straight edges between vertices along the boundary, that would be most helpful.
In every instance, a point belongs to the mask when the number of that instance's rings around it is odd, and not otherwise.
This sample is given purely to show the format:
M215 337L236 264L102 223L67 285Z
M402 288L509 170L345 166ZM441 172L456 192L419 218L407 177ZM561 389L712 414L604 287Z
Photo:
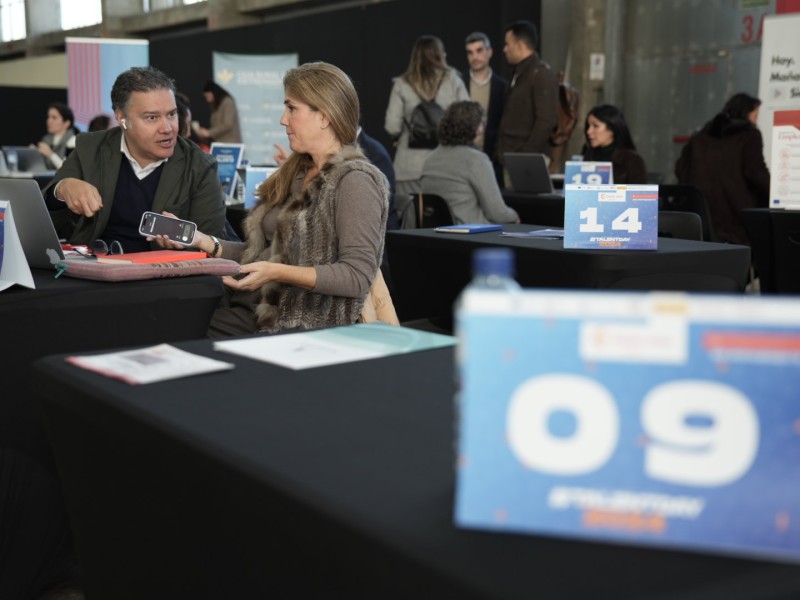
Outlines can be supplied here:
M236 368L35 366L90 598L800 594L797 565L456 528L452 348L291 371L177 346Z

